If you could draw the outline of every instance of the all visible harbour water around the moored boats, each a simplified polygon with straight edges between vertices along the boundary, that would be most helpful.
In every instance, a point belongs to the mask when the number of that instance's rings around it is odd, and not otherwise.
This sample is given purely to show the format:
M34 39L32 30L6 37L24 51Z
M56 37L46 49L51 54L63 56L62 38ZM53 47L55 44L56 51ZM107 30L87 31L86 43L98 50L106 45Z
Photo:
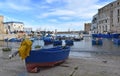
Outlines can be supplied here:
M74 41L74 45L71 46L70 56L72 57L92 57L97 55L120 55L120 46L113 44L112 39L103 39L103 45L92 45L92 38L91 37L84 37L81 41ZM63 45L65 44L63 40ZM51 48L54 47L51 45L44 46L42 40L36 40L33 45L32 49L34 49L35 45L41 45L42 48ZM20 46L20 42L4 42L0 41L0 47L11 47L12 51L17 51ZM0 57L7 56L9 53L3 53L2 48L0 49Z

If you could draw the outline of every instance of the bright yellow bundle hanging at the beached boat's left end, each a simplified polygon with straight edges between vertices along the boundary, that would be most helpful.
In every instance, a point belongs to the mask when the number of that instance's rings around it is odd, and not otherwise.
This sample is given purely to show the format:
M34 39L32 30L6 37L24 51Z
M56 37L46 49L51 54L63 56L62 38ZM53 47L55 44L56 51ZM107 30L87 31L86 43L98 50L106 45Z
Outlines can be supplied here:
M25 59L27 56L29 56L30 50L32 46L32 41L29 39L25 39L21 42L21 46L19 47L19 56L21 59Z

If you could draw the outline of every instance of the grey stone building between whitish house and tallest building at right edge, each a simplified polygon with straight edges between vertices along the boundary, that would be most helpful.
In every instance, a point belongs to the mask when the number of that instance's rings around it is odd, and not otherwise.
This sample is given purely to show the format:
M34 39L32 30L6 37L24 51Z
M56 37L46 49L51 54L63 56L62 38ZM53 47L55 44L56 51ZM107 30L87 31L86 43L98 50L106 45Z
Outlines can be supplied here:
M98 10L98 32L111 32L112 10L108 4Z

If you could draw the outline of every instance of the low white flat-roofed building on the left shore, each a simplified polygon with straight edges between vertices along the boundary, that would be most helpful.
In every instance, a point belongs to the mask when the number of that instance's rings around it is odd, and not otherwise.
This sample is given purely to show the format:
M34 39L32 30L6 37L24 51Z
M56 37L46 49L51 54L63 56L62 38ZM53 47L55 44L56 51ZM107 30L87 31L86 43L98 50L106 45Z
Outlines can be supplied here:
M5 22L4 28L8 33L24 31L24 23L23 22Z

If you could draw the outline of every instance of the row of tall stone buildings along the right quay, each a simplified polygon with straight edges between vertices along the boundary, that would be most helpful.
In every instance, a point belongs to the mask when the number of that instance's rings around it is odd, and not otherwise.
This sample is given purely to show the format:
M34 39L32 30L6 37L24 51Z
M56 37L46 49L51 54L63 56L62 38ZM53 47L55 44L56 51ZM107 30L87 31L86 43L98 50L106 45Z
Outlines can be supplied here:
M96 15L93 16L92 27L96 25L98 33L120 33L120 0L111 2L98 9L97 23ZM91 29L95 31L95 29ZM96 32L95 32L96 33Z

